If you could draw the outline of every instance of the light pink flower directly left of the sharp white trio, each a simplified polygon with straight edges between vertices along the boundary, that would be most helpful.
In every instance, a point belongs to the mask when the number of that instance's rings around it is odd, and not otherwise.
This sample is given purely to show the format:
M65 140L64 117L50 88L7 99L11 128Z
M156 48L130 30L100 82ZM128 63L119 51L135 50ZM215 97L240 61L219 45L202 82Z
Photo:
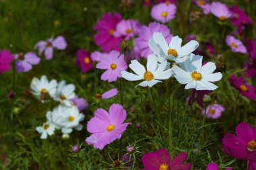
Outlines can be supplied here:
M117 77L122 77L121 71L127 69L127 63L123 54L113 50L109 54L102 55L96 68L106 70L100 77L102 80L113 82L117 81Z

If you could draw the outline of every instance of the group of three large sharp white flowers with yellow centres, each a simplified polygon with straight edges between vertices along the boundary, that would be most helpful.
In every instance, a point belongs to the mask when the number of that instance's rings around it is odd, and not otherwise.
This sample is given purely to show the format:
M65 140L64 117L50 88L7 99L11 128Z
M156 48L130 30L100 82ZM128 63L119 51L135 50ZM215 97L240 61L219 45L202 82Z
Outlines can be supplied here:
M154 54L148 56L146 69L137 60L131 60L129 67L135 74L122 71L122 77L128 81L143 80L139 83L142 87L152 87L160 80L175 77L179 83L186 84L185 89L217 89L211 82L222 79L222 74L214 73L214 62L202 65L203 56L192 53L199 46L197 41L191 40L185 46L181 43L182 39L174 36L168 45L162 33L154 33L148 41Z

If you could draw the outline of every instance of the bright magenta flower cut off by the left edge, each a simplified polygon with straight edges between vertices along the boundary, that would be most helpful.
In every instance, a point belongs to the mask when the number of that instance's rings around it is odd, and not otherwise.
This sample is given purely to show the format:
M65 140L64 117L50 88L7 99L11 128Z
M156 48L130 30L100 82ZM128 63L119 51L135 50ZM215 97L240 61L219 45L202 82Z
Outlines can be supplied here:
M0 74L11 69L10 62L14 59L9 50L0 50Z

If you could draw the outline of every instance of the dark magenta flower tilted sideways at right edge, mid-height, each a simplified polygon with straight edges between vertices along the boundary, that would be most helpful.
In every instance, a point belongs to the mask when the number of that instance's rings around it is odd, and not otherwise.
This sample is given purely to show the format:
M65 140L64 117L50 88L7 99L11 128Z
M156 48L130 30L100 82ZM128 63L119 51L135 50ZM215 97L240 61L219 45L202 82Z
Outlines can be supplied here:
M248 85L242 77L236 78L231 75L229 82L234 88L238 89L241 95L249 99L256 99L256 88L253 85Z

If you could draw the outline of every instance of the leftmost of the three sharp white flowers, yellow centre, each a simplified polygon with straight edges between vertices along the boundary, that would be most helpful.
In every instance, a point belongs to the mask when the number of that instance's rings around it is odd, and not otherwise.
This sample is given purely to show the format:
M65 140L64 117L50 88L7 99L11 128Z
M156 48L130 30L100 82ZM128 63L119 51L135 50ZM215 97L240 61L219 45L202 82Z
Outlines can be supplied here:
M170 69L164 71L166 65L167 61L165 60L158 67L158 57L154 54L150 54L147 61L147 71L137 60L131 60L129 67L136 75L127 71L122 71L121 75L128 81L143 80L139 83L142 87L152 87L156 83L162 82L159 80L169 79L172 75Z

